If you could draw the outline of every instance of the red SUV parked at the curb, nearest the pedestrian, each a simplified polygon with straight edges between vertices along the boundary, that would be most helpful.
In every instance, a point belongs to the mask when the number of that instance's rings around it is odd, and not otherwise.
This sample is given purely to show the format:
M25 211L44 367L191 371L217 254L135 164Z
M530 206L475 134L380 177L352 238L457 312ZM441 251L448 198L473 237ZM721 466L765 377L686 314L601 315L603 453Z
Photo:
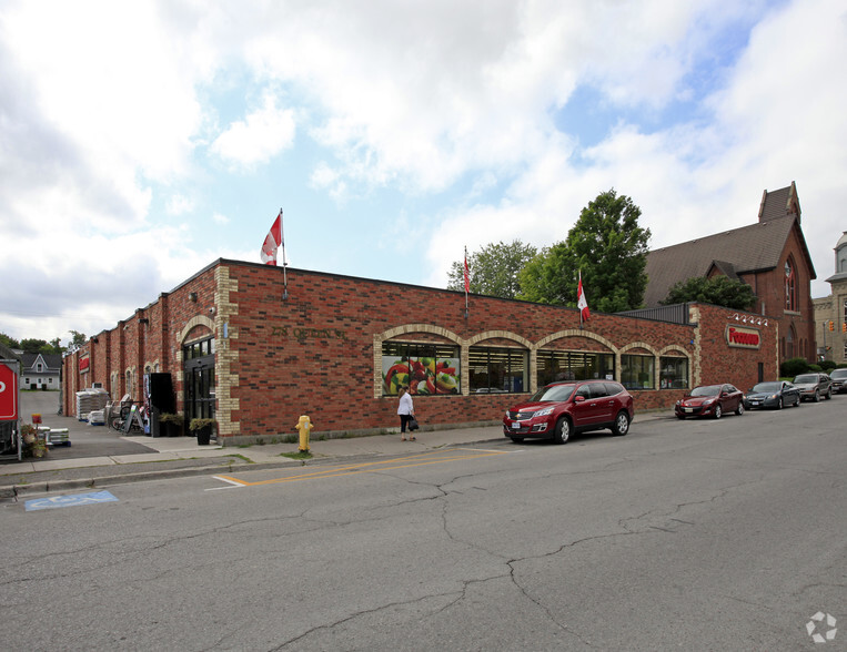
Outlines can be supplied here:
M611 428L613 435L626 435L633 416L633 397L619 383L552 383L506 410L503 434L515 442L532 438L566 444L587 430Z

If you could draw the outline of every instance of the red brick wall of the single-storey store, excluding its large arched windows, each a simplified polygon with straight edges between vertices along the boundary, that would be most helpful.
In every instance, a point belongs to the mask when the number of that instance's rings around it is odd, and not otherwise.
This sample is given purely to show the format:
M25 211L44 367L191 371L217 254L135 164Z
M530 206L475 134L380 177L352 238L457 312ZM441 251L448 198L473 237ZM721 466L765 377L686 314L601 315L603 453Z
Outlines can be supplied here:
M778 327L763 327L759 349L733 349L725 327L734 312L714 306L696 306L697 326L594 314L581 329L573 308L472 296L465 318L463 293L306 271L289 269L285 289L282 268L218 261L68 356L65 384L109 383L112 398L120 398L130 370L140 399L144 367L158 364L172 374L182 410L182 346L214 334L219 436L236 442L294 434L302 414L312 417L314 435L395 428L397 400L382 396L377 366L385 339L460 345L463 375L471 345L530 349L531 389L534 352L542 348L611 353L617 374L622 354L685 355L695 384L746 389L758 363L766 378L775 377ZM82 353L98 360L84 379L74 361ZM463 395L414 398L423 424L497 422L527 396L468 395L466 377L462 381ZM633 395L636 410L669 409L683 390ZM71 393L65 414L73 414L72 404Z

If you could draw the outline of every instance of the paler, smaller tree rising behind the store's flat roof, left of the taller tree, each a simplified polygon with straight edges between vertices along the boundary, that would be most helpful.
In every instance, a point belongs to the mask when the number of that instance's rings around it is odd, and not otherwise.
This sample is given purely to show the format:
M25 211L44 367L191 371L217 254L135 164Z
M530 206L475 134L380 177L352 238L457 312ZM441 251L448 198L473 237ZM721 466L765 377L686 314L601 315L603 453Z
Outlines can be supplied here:
M471 292L502 298L515 298L521 292L518 275L535 256L535 247L514 240L487 244L467 257ZM464 261L455 262L447 273L447 289L465 289Z

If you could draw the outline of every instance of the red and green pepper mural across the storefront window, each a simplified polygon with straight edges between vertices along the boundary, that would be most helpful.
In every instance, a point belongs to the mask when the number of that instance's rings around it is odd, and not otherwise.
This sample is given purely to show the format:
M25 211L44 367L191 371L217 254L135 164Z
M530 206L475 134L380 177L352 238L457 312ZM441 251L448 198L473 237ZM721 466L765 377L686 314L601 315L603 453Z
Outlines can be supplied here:
M393 347L396 349L396 347ZM400 388L409 385L417 396L458 394L458 357L394 355L383 350L383 394L396 396Z

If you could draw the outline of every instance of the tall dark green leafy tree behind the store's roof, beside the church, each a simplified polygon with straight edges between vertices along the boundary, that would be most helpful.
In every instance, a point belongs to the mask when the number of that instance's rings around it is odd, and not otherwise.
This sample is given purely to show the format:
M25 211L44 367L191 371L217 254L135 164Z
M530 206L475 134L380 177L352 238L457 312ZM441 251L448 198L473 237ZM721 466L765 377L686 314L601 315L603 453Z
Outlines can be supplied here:
M618 313L642 307L651 232L638 225L641 214L614 189L597 195L582 210L565 242L543 249L524 266L518 298L576 306L582 272L591 309Z

